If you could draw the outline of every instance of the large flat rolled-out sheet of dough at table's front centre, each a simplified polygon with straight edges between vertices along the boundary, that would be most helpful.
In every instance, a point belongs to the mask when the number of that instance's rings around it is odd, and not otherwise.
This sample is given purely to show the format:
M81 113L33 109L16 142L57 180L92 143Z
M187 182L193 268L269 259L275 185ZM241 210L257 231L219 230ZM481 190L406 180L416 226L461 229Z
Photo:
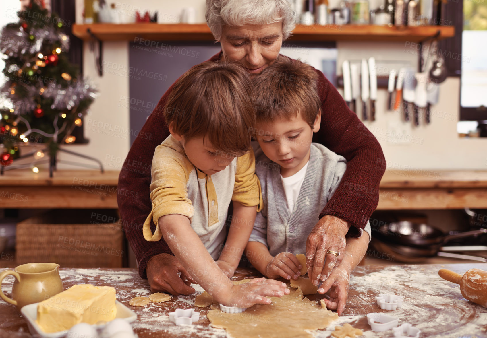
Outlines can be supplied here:
M232 338L313 338L313 333L307 330L324 329L338 319L336 313L303 299L300 289L269 298L272 303L256 304L242 313L210 310L207 318L212 326L225 329L226 336Z

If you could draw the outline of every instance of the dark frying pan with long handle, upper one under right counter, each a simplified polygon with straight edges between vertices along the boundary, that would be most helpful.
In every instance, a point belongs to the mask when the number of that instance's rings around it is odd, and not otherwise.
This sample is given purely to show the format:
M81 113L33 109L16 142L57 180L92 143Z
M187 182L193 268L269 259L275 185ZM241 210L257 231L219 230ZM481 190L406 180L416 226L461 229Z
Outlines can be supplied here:
M378 239L398 245L416 248L430 248L439 250L445 243L456 238L477 236L487 233L487 229L459 232L453 235L446 235L437 228L425 223L414 223L411 221L390 222L372 227L373 236Z

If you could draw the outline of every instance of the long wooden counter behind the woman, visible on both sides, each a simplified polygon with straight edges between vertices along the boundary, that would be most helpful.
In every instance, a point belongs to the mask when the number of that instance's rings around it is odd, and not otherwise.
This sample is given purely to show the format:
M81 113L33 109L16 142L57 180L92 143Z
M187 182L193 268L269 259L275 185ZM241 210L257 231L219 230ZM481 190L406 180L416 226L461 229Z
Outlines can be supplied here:
M118 171L59 170L50 178L47 171L12 170L0 176L3 208L117 208ZM375 192L349 185L350 194ZM136 196L125 191L127 196ZM136 197L135 197L136 198ZM386 170L379 191L377 210L487 209L486 170Z

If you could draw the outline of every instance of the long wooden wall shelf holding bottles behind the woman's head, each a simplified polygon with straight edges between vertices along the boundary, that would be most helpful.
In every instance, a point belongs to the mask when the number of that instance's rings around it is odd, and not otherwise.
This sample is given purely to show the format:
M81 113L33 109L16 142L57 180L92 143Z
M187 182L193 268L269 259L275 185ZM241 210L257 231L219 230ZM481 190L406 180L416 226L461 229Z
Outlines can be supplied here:
M135 38L166 41L213 41L206 23L201 24L74 24L73 34L90 40L91 33L102 41L134 41ZM289 40L294 41L411 41L420 42L440 32L439 39L452 37L451 26L389 27L376 25L298 25Z

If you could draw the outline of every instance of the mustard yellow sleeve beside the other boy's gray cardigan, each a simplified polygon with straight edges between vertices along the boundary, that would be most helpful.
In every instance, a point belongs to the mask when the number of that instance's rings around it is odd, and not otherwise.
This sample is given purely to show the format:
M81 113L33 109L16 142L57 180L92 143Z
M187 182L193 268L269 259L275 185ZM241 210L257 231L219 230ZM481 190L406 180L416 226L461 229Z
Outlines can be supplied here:
M258 212L262 210L261 182L255 174L255 157L252 150L237 158L232 201L246 207L257 206Z

